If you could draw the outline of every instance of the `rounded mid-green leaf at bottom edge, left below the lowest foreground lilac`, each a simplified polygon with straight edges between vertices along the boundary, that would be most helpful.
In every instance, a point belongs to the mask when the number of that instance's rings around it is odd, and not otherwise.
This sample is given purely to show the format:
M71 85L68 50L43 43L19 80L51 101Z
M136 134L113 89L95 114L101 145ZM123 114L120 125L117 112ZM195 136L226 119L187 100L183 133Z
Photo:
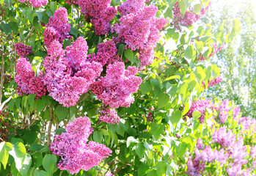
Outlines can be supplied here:
M43 157L43 168L49 175L54 173L54 169L56 169L56 162L56 155L46 154L45 157Z

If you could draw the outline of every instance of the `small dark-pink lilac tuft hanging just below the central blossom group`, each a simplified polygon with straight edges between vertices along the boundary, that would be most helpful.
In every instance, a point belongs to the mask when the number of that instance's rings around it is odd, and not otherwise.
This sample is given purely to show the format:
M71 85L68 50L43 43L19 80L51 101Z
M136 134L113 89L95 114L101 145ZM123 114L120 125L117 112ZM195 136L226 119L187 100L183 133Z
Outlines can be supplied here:
M120 122L120 117L117 115L117 111L114 109L104 108L100 112L99 120L106 123L118 124L118 122Z

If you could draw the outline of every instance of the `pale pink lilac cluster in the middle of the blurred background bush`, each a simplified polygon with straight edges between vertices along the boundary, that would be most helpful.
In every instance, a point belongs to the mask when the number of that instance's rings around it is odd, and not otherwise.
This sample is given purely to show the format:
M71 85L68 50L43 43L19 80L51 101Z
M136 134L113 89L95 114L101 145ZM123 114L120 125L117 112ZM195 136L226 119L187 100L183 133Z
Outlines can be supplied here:
M235 134L232 133L232 130L226 132L226 126L224 126L213 132L212 140L221 144L223 147L230 148L235 143Z

